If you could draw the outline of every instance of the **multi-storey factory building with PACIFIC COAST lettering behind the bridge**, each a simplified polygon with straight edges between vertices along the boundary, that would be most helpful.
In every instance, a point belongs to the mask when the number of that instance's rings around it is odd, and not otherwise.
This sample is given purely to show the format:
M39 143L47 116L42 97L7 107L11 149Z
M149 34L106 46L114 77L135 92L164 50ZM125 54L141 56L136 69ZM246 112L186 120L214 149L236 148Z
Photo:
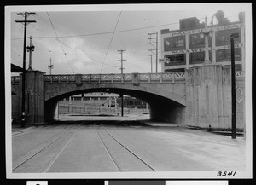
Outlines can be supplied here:
M218 11L224 14L222 11ZM215 14L216 15L216 14ZM218 16L218 14L217 14ZM216 18L217 18L216 16ZM224 16L224 15L223 15ZM218 24L207 26L212 32L208 39L210 64L229 66L230 35L238 33L235 40L236 71L245 69L245 25L244 13L239 13L239 21L230 22L226 18L218 19ZM206 31L206 25L200 23L196 17L180 20L180 29L161 30L161 62L162 72L184 72L192 66L201 66L205 61L206 40L201 38L201 33Z

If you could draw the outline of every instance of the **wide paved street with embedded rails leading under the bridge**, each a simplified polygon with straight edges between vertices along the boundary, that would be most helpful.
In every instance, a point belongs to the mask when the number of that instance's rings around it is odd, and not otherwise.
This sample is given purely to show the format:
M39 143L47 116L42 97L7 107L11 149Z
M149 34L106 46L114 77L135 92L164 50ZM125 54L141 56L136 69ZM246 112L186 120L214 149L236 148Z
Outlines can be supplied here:
M230 136L175 124L148 126L114 118L112 121L68 119L71 118L62 117L62 122L25 130L14 128L13 171L239 171L246 168L243 137L232 140Z

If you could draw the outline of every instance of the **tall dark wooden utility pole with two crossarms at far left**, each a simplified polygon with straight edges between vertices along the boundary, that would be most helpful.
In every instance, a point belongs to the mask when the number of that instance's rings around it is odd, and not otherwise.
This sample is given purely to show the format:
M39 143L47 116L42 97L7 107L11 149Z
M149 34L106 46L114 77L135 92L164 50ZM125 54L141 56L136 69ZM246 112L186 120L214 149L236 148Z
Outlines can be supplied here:
M26 25L28 23L36 22L36 20L27 20L27 16L36 14L34 12L18 13L22 15L25 20L15 20L18 23L24 23L24 44L23 44L23 72L22 72L22 106L21 106L21 127L25 127L25 78L26 78Z

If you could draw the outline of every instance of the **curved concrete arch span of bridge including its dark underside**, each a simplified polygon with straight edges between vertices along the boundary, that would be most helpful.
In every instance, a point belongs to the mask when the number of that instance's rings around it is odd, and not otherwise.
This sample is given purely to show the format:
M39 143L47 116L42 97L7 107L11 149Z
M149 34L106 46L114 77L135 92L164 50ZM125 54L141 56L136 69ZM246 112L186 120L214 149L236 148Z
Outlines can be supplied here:
M53 85L51 85L51 88ZM160 87L145 88L143 86L128 85L87 85L87 87L61 88L53 90L55 94L50 94L45 90L44 101L44 119L51 120L55 115L55 108L58 101L63 100L71 95L78 95L90 92L108 92L115 94L130 95L147 102L150 105L150 119L156 121L168 121L171 123L182 123L185 113L184 97L174 92L167 92Z

